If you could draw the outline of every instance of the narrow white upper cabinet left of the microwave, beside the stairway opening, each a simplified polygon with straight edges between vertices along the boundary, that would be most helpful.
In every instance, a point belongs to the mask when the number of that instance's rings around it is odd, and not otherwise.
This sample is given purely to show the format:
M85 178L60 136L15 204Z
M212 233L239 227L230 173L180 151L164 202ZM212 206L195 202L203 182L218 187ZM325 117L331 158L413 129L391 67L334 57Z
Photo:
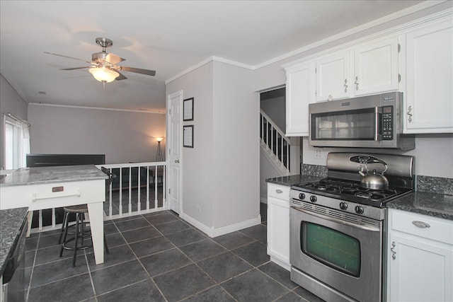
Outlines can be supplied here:
M314 63L286 69L286 135L309 134L309 103L314 101Z

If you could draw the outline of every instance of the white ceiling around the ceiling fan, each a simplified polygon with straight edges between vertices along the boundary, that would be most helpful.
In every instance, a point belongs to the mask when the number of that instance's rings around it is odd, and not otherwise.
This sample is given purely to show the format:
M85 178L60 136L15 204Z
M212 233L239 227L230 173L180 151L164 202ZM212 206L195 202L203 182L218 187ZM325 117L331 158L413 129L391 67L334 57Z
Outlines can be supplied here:
M423 1L0 1L0 71L28 103L164 112L165 81L216 56L259 66ZM127 80L93 79L84 62L113 40Z

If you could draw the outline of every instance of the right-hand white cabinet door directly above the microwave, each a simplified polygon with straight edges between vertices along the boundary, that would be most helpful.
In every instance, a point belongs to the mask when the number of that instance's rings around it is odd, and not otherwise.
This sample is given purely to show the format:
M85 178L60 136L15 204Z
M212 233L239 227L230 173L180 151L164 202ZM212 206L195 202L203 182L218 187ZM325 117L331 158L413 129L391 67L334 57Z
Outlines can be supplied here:
M398 39L357 47L354 52L354 95L398 90Z

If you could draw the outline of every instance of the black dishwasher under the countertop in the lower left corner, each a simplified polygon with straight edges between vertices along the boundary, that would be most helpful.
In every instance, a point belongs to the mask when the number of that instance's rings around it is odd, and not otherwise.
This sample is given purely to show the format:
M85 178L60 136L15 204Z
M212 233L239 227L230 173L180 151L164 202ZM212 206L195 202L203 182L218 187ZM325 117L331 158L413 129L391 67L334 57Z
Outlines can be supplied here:
M4 302L25 301L25 236L27 219L24 219L18 240L6 260L3 272Z

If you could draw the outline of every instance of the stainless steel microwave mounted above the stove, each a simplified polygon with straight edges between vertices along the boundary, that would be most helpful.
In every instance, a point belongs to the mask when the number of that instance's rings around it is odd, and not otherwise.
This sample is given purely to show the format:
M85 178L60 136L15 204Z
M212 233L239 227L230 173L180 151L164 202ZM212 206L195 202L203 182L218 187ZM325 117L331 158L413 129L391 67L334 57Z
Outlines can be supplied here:
M403 134L403 93L309 104L309 144L316 147L415 148Z

